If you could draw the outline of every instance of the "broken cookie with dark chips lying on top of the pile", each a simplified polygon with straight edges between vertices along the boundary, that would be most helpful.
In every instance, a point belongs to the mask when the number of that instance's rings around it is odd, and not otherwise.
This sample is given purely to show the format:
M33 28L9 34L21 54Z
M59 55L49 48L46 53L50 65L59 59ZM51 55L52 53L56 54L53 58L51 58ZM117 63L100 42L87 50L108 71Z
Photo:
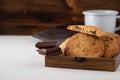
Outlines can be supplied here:
M103 37L104 31L96 26L89 26L89 25L69 25L67 27L68 30L73 30L81 33L86 33L89 35L94 35L97 37Z

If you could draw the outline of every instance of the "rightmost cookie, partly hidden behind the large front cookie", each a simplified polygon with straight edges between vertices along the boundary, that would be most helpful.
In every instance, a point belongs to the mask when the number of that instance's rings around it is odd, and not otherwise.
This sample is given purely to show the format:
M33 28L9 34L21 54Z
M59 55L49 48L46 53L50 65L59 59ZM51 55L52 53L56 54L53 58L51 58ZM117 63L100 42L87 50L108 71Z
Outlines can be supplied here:
M104 56L105 58L112 58L117 55L119 50L117 34L106 32L104 38Z

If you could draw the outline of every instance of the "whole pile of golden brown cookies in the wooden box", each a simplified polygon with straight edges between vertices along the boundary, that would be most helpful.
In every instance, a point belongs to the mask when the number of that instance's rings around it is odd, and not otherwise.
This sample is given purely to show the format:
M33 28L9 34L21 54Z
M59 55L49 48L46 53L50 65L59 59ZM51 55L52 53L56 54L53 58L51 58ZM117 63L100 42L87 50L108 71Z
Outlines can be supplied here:
M70 25L77 33L66 39L60 48L65 56L112 58L120 52L120 36L104 32L96 26Z

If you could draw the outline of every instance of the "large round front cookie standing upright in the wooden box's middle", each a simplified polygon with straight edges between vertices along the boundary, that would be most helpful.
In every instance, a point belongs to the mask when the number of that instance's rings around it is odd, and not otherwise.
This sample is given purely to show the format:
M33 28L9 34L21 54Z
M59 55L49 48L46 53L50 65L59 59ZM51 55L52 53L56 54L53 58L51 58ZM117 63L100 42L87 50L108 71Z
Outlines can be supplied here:
M74 34L65 48L66 56L100 58L103 53L103 39L84 33Z

